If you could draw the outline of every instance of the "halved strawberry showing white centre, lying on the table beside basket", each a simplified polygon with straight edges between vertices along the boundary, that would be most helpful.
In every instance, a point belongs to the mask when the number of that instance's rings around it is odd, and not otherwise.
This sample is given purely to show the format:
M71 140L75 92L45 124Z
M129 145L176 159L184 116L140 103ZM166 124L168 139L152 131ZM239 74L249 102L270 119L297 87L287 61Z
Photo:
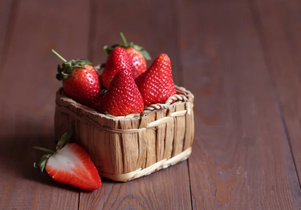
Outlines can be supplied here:
M65 133L57 144L56 151L34 147L35 149L50 152L43 155L39 168L57 182L69 184L84 190L95 190L101 185L101 180L89 154L76 143L67 143L73 129Z

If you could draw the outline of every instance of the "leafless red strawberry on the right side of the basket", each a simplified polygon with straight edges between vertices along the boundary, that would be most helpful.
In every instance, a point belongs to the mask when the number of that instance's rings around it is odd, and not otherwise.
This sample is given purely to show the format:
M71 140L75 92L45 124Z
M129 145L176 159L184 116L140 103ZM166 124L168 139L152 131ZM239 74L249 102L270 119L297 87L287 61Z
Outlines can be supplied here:
M135 82L145 106L164 104L170 96L176 94L171 60L166 54L160 54Z

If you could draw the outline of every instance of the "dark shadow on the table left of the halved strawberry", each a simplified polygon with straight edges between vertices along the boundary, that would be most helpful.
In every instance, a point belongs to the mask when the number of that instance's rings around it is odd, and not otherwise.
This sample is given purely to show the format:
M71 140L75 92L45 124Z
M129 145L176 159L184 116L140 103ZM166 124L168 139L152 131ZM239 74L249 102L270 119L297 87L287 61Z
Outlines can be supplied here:
M40 146L55 149L54 134L17 134L16 136L2 136L0 134L0 176L2 180L14 177L18 182L39 182L42 184L64 188L79 192L79 189L59 184L51 179L47 173L42 173L34 167L45 152L33 149Z

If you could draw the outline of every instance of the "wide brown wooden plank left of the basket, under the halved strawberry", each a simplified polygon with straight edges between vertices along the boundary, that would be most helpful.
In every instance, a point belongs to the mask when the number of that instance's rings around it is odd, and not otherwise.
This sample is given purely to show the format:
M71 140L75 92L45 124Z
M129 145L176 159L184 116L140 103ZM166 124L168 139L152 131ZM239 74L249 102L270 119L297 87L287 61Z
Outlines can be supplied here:
M55 79L60 61L50 50L66 59L88 55L89 4L18 3L0 78L0 208L76 209L79 192L35 169L42 153L32 146L54 149L55 91L61 83Z

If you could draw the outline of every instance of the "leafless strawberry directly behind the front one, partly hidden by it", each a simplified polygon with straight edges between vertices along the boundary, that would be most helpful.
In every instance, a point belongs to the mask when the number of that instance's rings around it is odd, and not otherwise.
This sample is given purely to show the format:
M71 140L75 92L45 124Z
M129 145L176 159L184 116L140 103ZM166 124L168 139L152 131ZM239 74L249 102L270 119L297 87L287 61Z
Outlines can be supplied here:
M101 84L105 89L109 85L119 69L128 69L132 72L132 65L129 61L128 55L121 47L116 47L112 50L107 58L104 70L101 74Z

